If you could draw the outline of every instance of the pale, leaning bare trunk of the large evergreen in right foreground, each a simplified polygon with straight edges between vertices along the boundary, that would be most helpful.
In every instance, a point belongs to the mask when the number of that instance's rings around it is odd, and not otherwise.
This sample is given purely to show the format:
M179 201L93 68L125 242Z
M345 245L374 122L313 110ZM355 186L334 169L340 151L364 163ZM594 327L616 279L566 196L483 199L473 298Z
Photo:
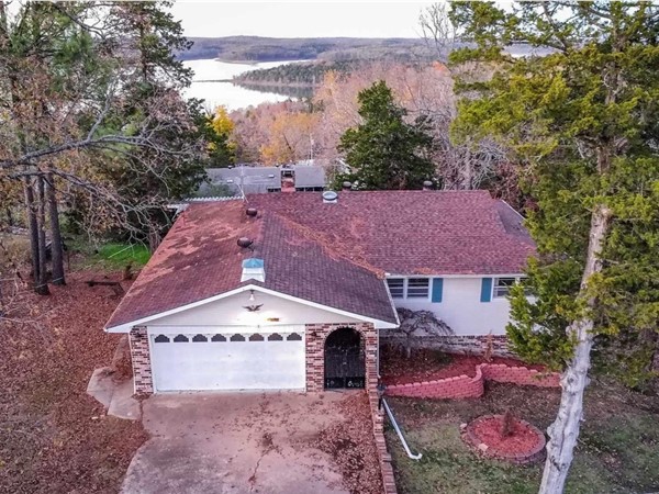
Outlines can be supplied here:
M580 296L585 290L591 277L602 270L600 252L608 231L611 211L604 205L597 205L592 214L590 239L585 267L581 278ZM596 301L589 297L588 307L593 308ZM543 472L539 494L561 494L568 471L572 462L574 446L579 437L579 426L583 416L583 392L588 385L590 352L593 346L593 319L585 315L574 321L567 329L574 337L577 345L574 355L568 363L561 379L561 397L558 415L549 426L549 442L547 442L547 461Z

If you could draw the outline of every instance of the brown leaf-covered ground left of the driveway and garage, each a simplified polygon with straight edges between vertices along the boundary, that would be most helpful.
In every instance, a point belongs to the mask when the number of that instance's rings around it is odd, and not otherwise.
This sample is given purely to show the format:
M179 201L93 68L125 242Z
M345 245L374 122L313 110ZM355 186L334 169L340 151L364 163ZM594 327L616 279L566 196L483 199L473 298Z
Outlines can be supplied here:
M119 340L102 330L119 297L85 283L104 276L69 274L51 296L27 292L13 314L27 322L0 323L0 492L116 493L146 439L141 423L104 417L86 394Z

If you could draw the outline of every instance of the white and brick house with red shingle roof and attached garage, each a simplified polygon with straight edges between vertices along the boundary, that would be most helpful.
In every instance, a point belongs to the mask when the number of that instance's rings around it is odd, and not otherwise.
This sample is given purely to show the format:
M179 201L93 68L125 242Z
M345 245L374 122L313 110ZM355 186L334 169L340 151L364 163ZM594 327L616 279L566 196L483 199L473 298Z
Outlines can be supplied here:
M485 191L295 192L190 204L105 330L135 390L373 389L396 306L456 345L503 335L534 245Z

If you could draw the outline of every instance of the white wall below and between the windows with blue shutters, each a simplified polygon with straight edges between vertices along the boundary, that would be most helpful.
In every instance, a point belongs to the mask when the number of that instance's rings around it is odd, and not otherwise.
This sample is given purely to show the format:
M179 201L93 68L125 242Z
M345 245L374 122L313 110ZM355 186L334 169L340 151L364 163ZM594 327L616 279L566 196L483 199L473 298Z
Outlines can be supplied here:
M431 290L432 292L432 290ZM505 334L510 304L505 297L481 302L480 278L444 278L442 302L427 299L393 299L396 307L433 311L456 335Z

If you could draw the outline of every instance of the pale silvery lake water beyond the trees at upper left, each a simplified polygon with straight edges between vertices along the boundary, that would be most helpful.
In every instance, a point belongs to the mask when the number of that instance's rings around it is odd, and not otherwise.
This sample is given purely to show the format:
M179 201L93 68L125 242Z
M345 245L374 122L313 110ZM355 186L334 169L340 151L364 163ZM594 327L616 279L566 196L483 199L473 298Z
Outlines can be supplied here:
M286 101L290 97L276 92L257 91L234 86L231 82L211 82L231 79L249 70L277 67L292 61L267 61L261 64L227 64L215 59L186 60L183 65L194 71L192 85L186 91L187 98L205 100L205 105L215 108L224 104L230 111L266 102Z

